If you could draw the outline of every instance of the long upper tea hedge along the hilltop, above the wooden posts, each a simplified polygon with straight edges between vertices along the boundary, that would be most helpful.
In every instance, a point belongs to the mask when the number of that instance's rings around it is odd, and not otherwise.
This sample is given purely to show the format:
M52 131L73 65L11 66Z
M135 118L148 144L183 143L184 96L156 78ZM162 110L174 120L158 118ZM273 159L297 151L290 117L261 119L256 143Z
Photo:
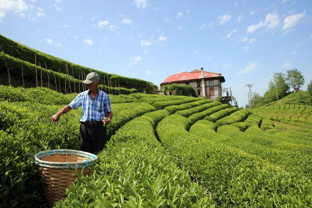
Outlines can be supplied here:
M94 70L88 67L80 66L78 64L75 64L75 63L72 63L72 62L57 58L57 57L53 57L51 55L42 53L40 51L31 49L23 44L15 42L14 40L6 38L2 35L0 35L0 44L5 54L10 55L11 57L24 60L32 64L35 64L35 54L36 54L37 64L39 64L40 62L41 66L44 67L44 63L46 63L48 69L52 68L52 70L55 72L59 72L60 70L60 73L67 74L66 67L65 67L65 65L67 64L68 69L69 69L69 75L73 76L73 72L74 72L74 77L77 79L79 76L80 76L80 79L82 79L81 78L82 72L85 75L91 72L97 72L100 76L100 79L102 80L102 83L104 83L104 79L105 79L105 82L107 83L107 76L108 77L113 76L112 80L110 80L110 85L113 84L112 86L115 86L115 80L117 81L116 83L118 84L118 79L119 79L120 86L124 86L126 88L136 88L139 92L145 91L149 93L149 92L152 92L154 88L157 89L157 86L154 85L152 82L148 82L142 79L111 75L111 74L108 74L99 70ZM129 87L128 87L128 84L129 84Z

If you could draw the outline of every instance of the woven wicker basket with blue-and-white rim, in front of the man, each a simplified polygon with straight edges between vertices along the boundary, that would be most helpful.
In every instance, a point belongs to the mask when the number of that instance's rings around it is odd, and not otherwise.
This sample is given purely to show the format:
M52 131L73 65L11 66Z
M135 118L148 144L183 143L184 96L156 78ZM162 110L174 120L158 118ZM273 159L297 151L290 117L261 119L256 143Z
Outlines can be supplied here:
M79 176L87 175L98 156L77 150L47 150L35 155L35 163L41 167L40 176L43 179L43 191L48 206L64 198L65 192Z

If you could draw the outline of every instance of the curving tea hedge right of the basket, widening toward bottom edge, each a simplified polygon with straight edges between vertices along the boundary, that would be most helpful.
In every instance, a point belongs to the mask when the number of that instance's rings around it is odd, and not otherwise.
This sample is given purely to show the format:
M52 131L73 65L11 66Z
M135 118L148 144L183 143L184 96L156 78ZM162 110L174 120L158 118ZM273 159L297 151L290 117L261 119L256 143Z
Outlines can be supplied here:
M211 194L192 182L173 162L154 134L160 110L133 119L120 128L99 156L89 177L83 177L57 207L205 207Z

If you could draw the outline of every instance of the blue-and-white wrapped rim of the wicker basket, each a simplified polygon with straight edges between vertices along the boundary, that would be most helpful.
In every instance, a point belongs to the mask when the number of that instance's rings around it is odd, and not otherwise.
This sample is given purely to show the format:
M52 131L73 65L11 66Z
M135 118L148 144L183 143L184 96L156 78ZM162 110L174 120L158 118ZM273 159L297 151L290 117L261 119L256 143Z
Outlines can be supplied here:
M52 156L55 154L73 154L76 156L88 158L89 160L81 161L81 162L50 162L41 160L44 156ZM67 149L59 149L59 150L46 150L40 151L35 155L35 163L41 167L46 168L57 168L57 169L73 169L73 168L83 168L94 165L96 160L98 160L98 156L86 151L78 151L78 150L67 150ZM67 167L67 168L65 168Z

